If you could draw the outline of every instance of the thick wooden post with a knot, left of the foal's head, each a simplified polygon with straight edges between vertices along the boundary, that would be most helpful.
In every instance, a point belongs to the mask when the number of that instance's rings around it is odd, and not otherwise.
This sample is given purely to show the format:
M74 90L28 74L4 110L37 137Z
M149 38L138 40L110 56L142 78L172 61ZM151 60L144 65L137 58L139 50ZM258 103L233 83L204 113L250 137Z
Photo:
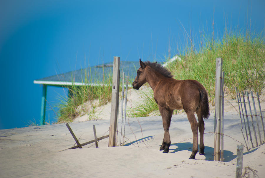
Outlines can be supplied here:
M110 110L110 138L109 147L115 146L116 131L117 131L117 111L119 104L119 70L120 57L114 56L113 60L113 76L112 76L112 95L111 95L111 110Z

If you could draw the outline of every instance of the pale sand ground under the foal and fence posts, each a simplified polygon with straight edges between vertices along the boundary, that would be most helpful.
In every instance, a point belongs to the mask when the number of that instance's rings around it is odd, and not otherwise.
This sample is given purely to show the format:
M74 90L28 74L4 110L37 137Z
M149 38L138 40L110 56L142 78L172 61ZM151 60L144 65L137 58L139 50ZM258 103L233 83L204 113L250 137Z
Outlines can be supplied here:
M244 143L239 115L230 107L225 107L224 134ZM77 138L81 137L80 143L94 139L93 124L97 137L109 134L109 113L105 116L105 120L70 123ZM213 161L213 126L211 111L205 120L205 155L197 154L195 160L188 159L192 132L185 114L172 117L169 153L159 151L164 135L160 116L129 118L125 136L134 143L123 147L108 148L106 138L98 143L99 148L92 143L83 149L62 151L75 143L65 124L0 130L0 177L235 177L236 146L240 143L225 136L225 162ZM249 152L244 148L243 167L247 166L264 177L265 145Z

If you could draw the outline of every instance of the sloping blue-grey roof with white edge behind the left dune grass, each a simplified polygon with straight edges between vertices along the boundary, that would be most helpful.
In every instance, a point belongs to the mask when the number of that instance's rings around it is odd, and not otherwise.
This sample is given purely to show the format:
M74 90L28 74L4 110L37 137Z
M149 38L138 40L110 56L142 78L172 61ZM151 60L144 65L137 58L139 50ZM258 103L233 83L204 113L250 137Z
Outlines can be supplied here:
M125 73L129 76L129 80L133 80L137 75L139 61L120 61L120 76ZM104 63L98 66L92 66L76 71L57 74L42 79L34 80L34 84L45 84L53 86L69 86L84 85L90 83L92 85L104 84L104 79L112 76L113 62Z

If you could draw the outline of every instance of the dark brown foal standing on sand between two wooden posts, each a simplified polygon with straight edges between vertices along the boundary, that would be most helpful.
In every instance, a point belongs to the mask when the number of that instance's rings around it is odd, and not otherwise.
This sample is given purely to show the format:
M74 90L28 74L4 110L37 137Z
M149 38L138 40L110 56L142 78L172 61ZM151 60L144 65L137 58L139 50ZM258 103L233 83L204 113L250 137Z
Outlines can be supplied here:
M132 83L133 89L139 89L144 83L148 83L154 91L154 99L158 104L163 119L165 130L160 150L168 153L170 146L169 127L173 110L184 109L191 124L193 133L193 148L190 159L195 159L198 152L198 128L201 135L200 154L204 154L203 133L204 118L209 117L209 104L205 88L196 80L176 80L166 68L158 63L142 62L137 76ZM194 115L197 113L198 122Z

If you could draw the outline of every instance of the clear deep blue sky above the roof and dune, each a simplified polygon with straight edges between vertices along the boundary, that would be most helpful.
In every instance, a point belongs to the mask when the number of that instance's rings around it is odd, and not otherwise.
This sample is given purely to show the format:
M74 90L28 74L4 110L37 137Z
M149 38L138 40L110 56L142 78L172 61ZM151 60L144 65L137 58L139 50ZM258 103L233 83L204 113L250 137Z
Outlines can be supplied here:
M39 123L42 87L34 79L121 60L165 61L187 34L262 32L265 1L1 1L0 129ZM251 24L251 27L250 27ZM185 29L185 30L184 30ZM262 32L264 35L264 32ZM62 89L48 87L54 105ZM47 104L47 119L56 115Z

